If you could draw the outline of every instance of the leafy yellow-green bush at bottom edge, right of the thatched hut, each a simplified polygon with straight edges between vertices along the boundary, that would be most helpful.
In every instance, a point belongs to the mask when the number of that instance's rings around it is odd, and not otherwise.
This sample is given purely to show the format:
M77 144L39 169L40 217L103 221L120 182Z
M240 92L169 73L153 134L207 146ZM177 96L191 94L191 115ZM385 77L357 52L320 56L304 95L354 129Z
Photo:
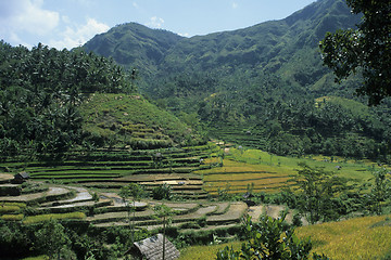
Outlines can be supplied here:
M294 229L280 219L262 216L260 222L252 222L251 217L244 219L245 242L241 250L226 246L217 252L217 260L260 260L260 259L308 259L312 249L310 238L300 240ZM328 259L314 253L313 259Z

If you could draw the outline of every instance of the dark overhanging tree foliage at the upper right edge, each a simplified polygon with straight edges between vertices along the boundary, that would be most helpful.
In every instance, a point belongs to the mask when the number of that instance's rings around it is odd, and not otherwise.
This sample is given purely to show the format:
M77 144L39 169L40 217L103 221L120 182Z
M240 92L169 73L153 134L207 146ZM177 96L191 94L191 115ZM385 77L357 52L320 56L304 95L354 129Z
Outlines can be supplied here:
M391 96L391 2L346 0L354 14L363 14L357 29L327 32L320 41L324 64L341 81L360 69L364 82L357 93L370 105Z

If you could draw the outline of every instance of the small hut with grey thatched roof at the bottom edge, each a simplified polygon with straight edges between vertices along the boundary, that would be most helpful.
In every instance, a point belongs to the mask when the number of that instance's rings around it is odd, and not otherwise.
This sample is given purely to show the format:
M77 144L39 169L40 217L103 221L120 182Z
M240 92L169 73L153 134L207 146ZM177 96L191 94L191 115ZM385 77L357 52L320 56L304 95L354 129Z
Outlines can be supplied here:
M134 248L129 251L134 257L147 260L162 260L163 259L163 235L157 234L136 242ZM179 251L174 244L165 238L165 253L164 260L175 260L179 258Z

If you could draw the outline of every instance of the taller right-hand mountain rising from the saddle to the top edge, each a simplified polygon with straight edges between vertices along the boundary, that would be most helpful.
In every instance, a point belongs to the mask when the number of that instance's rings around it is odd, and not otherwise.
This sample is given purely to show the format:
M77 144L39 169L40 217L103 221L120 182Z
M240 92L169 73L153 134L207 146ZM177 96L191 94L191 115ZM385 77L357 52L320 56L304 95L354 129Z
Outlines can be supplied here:
M161 67L173 73L234 67L313 84L327 72L321 66L319 40L326 31L354 27L358 21L342 0L320 0L281 21L181 40Z

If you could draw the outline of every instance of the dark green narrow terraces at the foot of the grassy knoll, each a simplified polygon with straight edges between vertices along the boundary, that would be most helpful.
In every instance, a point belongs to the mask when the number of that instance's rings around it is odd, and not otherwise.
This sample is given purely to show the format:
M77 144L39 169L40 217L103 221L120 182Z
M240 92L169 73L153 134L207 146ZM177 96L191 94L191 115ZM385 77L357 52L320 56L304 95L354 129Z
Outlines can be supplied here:
M166 183L171 185L173 195L202 199L207 197L202 188L202 177L192 172L209 168L202 165L202 160L215 150L218 147L207 144L181 148L79 151L67 155L64 161L7 161L4 167L26 171L37 181L80 184L100 190L113 191L129 183L139 183L151 191Z

